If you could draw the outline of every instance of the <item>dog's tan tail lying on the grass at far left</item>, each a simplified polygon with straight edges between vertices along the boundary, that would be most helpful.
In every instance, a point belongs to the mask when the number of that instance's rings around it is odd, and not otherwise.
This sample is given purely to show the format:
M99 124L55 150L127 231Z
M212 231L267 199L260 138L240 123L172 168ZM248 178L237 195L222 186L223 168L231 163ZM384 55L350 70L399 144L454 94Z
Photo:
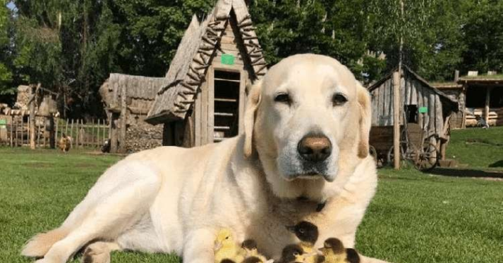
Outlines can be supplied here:
M21 251L21 255L26 257L44 257L54 243L63 239L70 231L59 228L53 229L47 233L39 233L28 240Z

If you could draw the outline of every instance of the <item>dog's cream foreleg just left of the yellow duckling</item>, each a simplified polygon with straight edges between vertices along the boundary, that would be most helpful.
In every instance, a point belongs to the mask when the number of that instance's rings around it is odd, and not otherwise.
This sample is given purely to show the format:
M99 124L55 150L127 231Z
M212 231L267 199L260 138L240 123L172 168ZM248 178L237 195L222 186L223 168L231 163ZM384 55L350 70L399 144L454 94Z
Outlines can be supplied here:
M213 263L214 238L214 232L210 229L188 233L183 243L183 263Z

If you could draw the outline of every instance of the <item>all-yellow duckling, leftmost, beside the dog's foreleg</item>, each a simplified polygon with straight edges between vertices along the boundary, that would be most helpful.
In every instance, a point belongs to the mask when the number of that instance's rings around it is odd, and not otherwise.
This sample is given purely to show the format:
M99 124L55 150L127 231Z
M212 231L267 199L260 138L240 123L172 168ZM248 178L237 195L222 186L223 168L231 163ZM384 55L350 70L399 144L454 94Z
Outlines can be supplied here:
M231 259L234 262L241 262L243 256L238 255L239 248L234 241L234 237L229 229L221 229L217 233L214 241L215 263L220 263L224 259Z

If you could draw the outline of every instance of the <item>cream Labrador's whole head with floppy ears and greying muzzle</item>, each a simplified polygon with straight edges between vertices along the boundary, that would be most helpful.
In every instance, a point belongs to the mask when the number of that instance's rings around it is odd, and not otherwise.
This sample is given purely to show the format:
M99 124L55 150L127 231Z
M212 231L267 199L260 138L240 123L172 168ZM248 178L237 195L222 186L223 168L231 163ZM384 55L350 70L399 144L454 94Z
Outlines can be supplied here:
M337 60L291 56L250 88L245 155L281 198L337 194L368 155L370 95Z

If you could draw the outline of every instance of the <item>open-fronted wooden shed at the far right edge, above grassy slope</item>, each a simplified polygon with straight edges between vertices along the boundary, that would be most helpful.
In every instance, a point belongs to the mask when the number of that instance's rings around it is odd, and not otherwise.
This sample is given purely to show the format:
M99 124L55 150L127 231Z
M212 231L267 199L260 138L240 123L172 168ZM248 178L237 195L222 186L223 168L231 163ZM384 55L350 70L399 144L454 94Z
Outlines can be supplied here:
M466 97L464 126L474 127L483 118L490 126L503 125L503 76L461 77L458 82Z

